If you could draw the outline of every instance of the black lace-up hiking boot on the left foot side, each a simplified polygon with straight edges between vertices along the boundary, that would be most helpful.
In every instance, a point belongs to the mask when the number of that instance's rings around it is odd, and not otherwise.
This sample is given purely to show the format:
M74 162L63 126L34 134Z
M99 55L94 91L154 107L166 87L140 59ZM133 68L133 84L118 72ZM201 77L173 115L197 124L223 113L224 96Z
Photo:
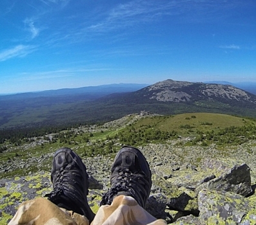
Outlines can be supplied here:
M81 158L71 149L59 149L52 161L51 181L54 190L46 194L52 203L84 215L90 222L95 214L87 203L88 174Z

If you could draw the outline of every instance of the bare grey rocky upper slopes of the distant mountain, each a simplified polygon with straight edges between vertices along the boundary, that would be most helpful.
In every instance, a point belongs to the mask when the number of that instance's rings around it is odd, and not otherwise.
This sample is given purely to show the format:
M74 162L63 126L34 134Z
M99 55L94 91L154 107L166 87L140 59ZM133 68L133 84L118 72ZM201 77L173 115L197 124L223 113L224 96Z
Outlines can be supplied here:
M235 100L256 104L256 96L232 85L203 84L164 80L136 91L160 102L194 102L196 100Z

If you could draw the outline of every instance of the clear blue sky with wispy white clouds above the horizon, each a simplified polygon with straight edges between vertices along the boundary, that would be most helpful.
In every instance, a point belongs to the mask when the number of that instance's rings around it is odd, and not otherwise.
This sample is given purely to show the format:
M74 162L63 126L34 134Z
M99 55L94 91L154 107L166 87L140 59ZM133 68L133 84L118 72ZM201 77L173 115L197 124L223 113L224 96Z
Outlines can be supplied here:
M256 82L255 0L1 0L0 94Z

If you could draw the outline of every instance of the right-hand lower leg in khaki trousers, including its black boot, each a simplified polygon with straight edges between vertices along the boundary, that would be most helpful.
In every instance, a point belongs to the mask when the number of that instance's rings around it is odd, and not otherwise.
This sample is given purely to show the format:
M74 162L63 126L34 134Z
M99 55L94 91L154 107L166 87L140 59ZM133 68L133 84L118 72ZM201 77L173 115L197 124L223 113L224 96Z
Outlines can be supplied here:
M152 180L141 151L127 146L119 150L111 168L110 183L92 224L166 224L144 210Z

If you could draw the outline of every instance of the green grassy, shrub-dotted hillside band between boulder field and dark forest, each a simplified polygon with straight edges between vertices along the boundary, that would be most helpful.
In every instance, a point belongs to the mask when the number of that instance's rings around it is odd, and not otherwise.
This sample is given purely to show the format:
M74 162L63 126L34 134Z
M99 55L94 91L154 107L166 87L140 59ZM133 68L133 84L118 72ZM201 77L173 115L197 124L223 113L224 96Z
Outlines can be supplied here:
M30 160L40 158L45 154L53 154L61 147L70 147L80 156L95 156L97 154L112 154L114 156L122 145L133 145L139 147L148 143L166 143L168 140L179 137L190 137L191 141L186 145L207 146L211 143L219 145L239 145L255 138L255 120L229 116L226 114L212 113L186 113L175 116L153 116L142 118L130 125L127 121L133 120L133 116L126 120L123 127L104 129L104 125L98 126L97 132L79 132L72 130L59 133L59 138L54 142L46 142L43 145L28 147L30 142L21 140L21 145L6 143L8 150L0 153L0 163L7 163L12 160ZM126 126L125 126L126 125ZM177 145L184 143L177 143ZM52 158L45 159L41 167L50 170ZM0 174L2 177L20 176L28 172L37 172L39 168L34 165L31 168L17 169L13 172Z

